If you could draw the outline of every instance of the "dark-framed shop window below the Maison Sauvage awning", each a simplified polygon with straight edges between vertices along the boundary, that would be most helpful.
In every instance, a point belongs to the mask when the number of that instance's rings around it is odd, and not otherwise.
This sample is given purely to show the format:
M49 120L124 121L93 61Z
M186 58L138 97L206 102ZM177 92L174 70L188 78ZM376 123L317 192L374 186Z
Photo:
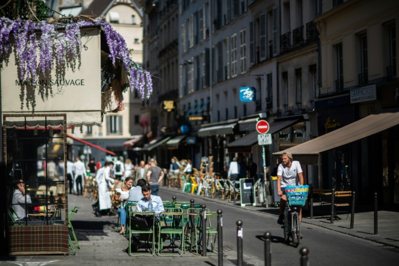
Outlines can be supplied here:
M66 225L65 116L5 115L4 125L8 226Z

